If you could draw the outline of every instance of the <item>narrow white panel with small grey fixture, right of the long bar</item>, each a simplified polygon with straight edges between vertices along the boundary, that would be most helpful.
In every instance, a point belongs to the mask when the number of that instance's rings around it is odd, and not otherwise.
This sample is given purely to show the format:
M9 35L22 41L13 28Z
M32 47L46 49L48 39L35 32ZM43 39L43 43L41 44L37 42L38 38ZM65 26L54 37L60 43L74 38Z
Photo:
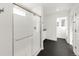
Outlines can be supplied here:
M33 55L40 49L40 17L34 15L33 19Z

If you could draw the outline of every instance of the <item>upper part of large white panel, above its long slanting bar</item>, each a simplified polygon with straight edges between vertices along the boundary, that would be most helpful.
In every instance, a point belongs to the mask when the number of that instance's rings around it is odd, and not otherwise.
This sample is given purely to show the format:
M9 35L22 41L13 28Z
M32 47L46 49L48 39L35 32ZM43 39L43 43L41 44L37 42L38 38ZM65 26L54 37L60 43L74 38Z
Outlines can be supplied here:
M19 39L33 34L32 14L20 7L14 7L14 38ZM15 11L19 10L20 14Z

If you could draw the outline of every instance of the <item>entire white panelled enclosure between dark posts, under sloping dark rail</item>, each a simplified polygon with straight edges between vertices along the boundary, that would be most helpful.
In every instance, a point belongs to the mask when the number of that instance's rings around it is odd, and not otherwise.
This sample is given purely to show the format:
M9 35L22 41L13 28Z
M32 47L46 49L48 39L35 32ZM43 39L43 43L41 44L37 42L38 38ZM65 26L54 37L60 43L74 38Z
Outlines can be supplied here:
M31 56L40 49L40 17L14 7L14 55Z

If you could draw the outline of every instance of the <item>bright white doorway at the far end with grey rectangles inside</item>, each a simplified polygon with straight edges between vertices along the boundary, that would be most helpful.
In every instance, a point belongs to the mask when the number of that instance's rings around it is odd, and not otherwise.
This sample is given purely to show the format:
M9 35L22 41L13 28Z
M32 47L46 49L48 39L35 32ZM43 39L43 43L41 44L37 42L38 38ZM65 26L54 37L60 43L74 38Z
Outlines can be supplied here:
M68 28L67 28L67 17L57 18L57 38L67 39Z

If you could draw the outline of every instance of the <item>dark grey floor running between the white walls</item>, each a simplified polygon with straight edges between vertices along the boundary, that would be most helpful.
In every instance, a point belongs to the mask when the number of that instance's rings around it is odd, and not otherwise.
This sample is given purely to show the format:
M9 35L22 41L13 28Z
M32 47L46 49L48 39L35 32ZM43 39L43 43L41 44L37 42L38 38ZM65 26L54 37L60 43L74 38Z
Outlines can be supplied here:
M65 39L58 41L44 40L44 50L38 56L75 56L72 46L67 44Z

